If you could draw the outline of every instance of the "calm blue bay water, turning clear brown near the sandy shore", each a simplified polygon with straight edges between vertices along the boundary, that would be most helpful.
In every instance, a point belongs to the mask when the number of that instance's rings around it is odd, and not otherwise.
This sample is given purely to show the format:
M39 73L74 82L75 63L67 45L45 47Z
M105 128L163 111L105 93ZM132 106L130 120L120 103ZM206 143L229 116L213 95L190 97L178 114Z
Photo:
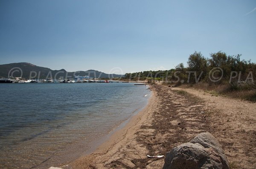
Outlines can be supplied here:
M0 168L67 163L142 109L134 83L0 84ZM93 142L93 143L92 143Z

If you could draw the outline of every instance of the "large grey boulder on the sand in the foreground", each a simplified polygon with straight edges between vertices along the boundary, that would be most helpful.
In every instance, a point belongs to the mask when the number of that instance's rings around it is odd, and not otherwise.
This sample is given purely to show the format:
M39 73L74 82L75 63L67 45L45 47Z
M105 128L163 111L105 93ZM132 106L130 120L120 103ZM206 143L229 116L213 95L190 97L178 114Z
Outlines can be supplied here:
M163 169L229 169L227 157L209 132L166 153Z

